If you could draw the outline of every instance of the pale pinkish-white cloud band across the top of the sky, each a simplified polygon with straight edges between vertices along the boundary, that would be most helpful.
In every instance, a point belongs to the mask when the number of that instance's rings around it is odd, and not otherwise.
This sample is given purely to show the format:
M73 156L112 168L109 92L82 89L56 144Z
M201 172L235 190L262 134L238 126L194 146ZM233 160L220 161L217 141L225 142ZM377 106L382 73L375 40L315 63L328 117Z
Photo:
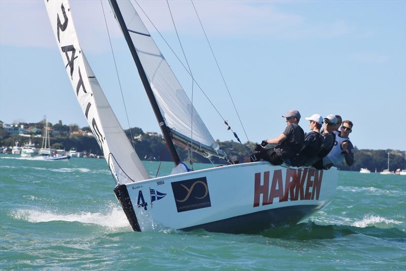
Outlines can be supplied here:
M107 45L100 47L100 44L106 44L103 41L107 39L100 2L71 1L70 3L81 43L91 44L92 48L98 51L110 50ZM114 22L110 5L107 1L103 3L110 35L113 38L120 37L121 32ZM174 31L165 1L139 1L139 3L160 31ZM331 38L345 35L353 30L342 20L313 24L301 15L276 9L273 2L194 1L193 3L209 37L272 35L296 39ZM139 10L138 5L134 2L133 4ZM191 2L170 1L170 6L178 30L183 35L202 35ZM140 13L144 17L142 12ZM149 29L153 29L148 20L144 21ZM0 1L0 43L21 47L54 48L54 37L44 2Z

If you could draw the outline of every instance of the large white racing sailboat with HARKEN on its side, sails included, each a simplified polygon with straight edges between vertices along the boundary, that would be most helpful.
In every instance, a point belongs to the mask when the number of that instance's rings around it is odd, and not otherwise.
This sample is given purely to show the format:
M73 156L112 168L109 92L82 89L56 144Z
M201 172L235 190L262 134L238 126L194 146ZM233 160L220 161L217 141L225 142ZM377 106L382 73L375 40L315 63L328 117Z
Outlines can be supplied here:
M186 171L174 143L204 156L225 158L226 154L215 143L132 4L111 0L177 165L175 174L151 178L85 58L69 2L45 0L45 4L75 95L117 182L114 192L134 231L160 225L183 230L258 232L296 223L332 200L337 186L334 167L318 171L262 161Z

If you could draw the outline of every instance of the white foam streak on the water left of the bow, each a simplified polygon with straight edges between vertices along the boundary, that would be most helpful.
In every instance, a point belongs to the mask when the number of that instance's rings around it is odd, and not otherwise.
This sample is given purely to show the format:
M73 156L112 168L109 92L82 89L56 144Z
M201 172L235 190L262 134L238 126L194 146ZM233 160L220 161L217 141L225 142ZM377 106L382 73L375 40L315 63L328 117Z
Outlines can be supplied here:
M84 224L96 224L114 229L130 229L127 218L123 210L116 205L110 204L104 212L80 212L73 214L62 214L48 210L25 210L20 209L11 213L12 217L18 220L24 220L31 223L66 221L80 222Z

